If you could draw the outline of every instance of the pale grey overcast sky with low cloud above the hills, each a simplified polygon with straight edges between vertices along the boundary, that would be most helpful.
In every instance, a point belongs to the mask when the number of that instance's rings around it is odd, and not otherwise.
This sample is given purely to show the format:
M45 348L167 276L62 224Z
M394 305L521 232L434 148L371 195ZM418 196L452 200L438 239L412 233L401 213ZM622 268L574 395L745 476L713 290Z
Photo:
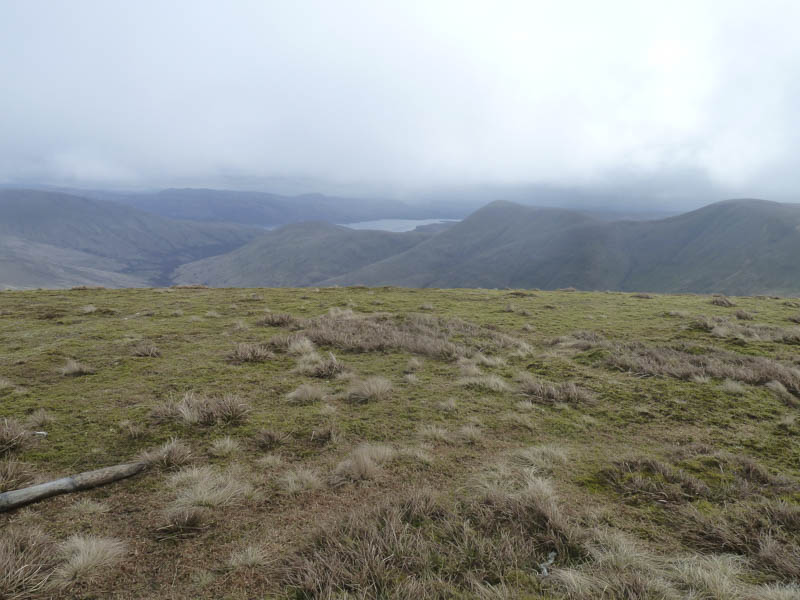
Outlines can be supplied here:
M0 0L0 182L689 173L796 200L798 23L797 0Z

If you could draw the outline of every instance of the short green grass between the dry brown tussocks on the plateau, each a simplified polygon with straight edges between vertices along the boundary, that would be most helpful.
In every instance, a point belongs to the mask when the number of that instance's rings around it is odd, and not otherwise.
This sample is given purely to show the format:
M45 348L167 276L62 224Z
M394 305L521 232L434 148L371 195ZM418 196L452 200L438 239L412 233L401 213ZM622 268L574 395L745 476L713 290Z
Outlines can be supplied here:
M372 507L390 506L385 510L396 511L392 503L425 488L447 507L442 514L448 516L436 521L430 532L420 533L424 539L414 539L425 547L435 545L437 539L444 543L445 538L454 544L487 540L486 547L474 549L476 556L480 555L475 564L480 564L483 579L477 583L467 578L447 579L456 569L454 564L465 560L461 551L456 553L448 546L442 558L447 564L433 561L414 572L391 571L386 580L379 580L375 574L372 584L389 586L386 597L392 590L400 593L392 587L399 585L399 577L421 582L421 597L475 597L483 589L481 585L501 584L518 597L584 597L558 583L561 580L557 577L541 578L531 571L535 565L532 567L530 561L544 561L547 555L547 543L542 541L546 536L541 532L530 533L529 539L530 543L539 540L536 544L544 544L541 556L538 549L535 555L522 551L524 537L514 537L516 541L509 546L528 565L520 567L522 571L492 573L488 569L487 564L499 560L500 554L493 553L511 552L509 548L502 550L499 542L508 526L505 517L501 518L506 513L497 512L495 504L489 509L476 499L470 491L474 487L471 482L501 468L515 449L543 444L563 449L566 463L555 465L547 476L564 504L564 518L583 533L569 542L574 544L574 548L570 546L574 551L556 557L554 568L576 569L592 577L600 576L597 569L601 563L586 548L592 547L591 540L599 539L594 532L601 526L635 538L645 557L665 555L678 560L696 552L713 553L688 535L687 531L698 526L686 516L687 506L715 519L756 514L762 501L784 500L796 506L800 501L800 445L793 442L800 434L800 419L791 421L798 410L789 405L791 402L787 404L786 399L762 385L745 385L744 393L734 394L723 389L721 378L692 381L641 376L608 365L609 356L618 353L620 345L642 342L653 347L690 343L703 352L720 349L800 368L796 345L741 345L692 327L700 316L735 320L736 310L754 315L748 323L794 326L789 317L796 315L797 308L782 299L736 298L735 302L735 308L723 308L711 305L707 296L693 295L645 299L623 293L537 291L523 295L500 290L399 288L2 292L0 344L4 352L0 353L0 375L11 385L0 387L0 423L2 418L25 423L40 409L53 417L52 423L44 425L47 436L33 437L13 454L15 459L28 463L41 478L56 477L133 460L139 453L177 437L191 446L195 465L233 469L235 478L247 483L253 492L234 506L209 509L202 527L179 534L164 528L164 514L175 500L175 490L164 473L151 470L125 482L0 514L0 528L38 526L56 540L75 534L113 537L137 550L135 561L123 561L125 568L94 578L91 583L75 582L62 592L67 595L325 597L323 584L298 584L304 568L315 577L324 575L320 575L320 564L314 562L317 558L303 562L303 557L311 556L308 544L317 526L329 526L329 536L331 532L342 535L342 531L350 531L345 523L353 512L360 515L357 520L362 524L369 524L376 518L370 512ZM508 310L509 303L513 311ZM84 312L82 307L90 304L97 310ZM432 309L420 311L422 305ZM417 357L422 363L414 371L418 381L409 383L404 375L412 354L406 351L358 353L318 346L316 351L323 357L333 352L348 373L322 380L295 372L299 357L279 348L264 362L235 364L229 359L237 343L268 343L276 335L301 333L303 319L327 314L331 307L350 308L354 318L369 318L373 313L424 312L479 325L484 328L480 339L457 334L451 341L470 352L481 348L487 355L504 358L497 366L479 368L485 375L502 378L510 389L491 391L461 385L455 360L431 356ZM257 326L267 309L290 313L300 321L286 327ZM219 316L208 316L209 311ZM670 316L670 312L683 316ZM526 329L526 325L532 327ZM585 343L581 343L586 337L583 334L569 337L581 331L602 337ZM520 355L513 347L493 350L487 346L490 338L485 337L491 332L525 342L531 351ZM561 336L567 337L556 340ZM143 341L156 346L160 355L136 356L136 348ZM68 359L79 361L94 373L62 375L60 369ZM573 382L590 390L594 398L568 404L526 398L516 387L521 372L545 382ZM388 396L364 403L348 401L347 391L353 382L369 377L388 379L392 384ZM287 394L307 383L323 386L326 399L307 404L287 400ZM156 407L170 399L179 400L187 391L208 397L237 394L249 404L250 412L241 424L217 421L185 425L174 419L154 418ZM454 403L445 410L442 401L448 399ZM518 404L526 399L532 404L520 408ZM135 438L127 435L125 421L137 424L140 434ZM469 440L459 436L459 430L471 424L478 425L479 433ZM448 441L421 440L418 432L428 425L447 430ZM315 432L327 427L335 431L332 439L314 438ZM280 437L278 445L269 451L282 457L280 464L260 461L267 452L257 447L255 437L265 429ZM225 436L238 442L240 450L219 456L213 444ZM336 466L364 442L389 444L398 451L397 458L381 465L374 477L334 485L331 476ZM676 454L676 448L692 444L708 448L694 455ZM766 472L791 483L776 487L751 482L745 489L739 471L726 467L721 472L714 453L752 458ZM425 460L420 458L422 454ZM609 478L609 469L622 459L656 459L701 480L712 492L685 502L658 502L654 498L658 498L659 490L673 485L669 477L644 473L642 483L635 479L640 473L636 471L621 479ZM323 481L322 487L286 493L284 475L297 469L314 470ZM507 478L509 485L518 475ZM639 491L634 493L615 481L649 487L646 492L641 491L645 488L636 488ZM670 490L674 492L674 488ZM517 492L503 493L513 496ZM67 508L83 498L102 502L109 510L91 518L77 518L75 511ZM720 499L729 503L733 512L723 510ZM512 501L520 500L516 496L504 500ZM423 520L431 518L425 513ZM453 524L465 522L483 533L478 538L453 537ZM760 526L748 526L763 533ZM409 531L416 531L415 527ZM736 521L736 527L745 525ZM791 556L790 550L798 544L797 525L775 531L776 543L783 544L779 548ZM523 534L514 533L517 535ZM330 548L331 557L350 560L348 553L355 552L357 545L348 545L345 552L344 547L334 548L335 541L325 538L321 547ZM517 542L519 545L515 545ZM231 553L253 544L266 558L258 561L258 567L238 568L236 576L231 577L226 566ZM742 590L750 593L747 586L770 582L783 585L796 577L792 564L775 566L751 550L742 546L736 551L751 561L736 582ZM675 573L659 571L659 576L685 592L689 584ZM335 577L328 575L324 585L349 585L346 569ZM448 581L441 583L444 587L439 592L435 589L440 584L432 583L437 577ZM381 596L368 593L367 597Z

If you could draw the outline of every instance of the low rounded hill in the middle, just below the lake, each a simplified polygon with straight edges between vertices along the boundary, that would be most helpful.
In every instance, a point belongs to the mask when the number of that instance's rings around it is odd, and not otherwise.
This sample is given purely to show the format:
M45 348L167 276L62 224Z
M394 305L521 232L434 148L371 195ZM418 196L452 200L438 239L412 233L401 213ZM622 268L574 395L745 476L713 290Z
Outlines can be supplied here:
M228 254L182 265L174 279L220 287L314 285L404 252L429 237L328 223L286 225Z

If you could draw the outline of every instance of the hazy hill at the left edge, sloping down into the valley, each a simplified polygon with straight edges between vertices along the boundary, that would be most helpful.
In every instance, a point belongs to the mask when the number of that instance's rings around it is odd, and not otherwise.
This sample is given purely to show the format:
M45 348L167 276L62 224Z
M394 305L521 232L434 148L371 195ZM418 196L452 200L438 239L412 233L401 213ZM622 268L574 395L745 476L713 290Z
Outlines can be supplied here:
M0 287L163 285L176 266L258 233L69 194L0 190Z

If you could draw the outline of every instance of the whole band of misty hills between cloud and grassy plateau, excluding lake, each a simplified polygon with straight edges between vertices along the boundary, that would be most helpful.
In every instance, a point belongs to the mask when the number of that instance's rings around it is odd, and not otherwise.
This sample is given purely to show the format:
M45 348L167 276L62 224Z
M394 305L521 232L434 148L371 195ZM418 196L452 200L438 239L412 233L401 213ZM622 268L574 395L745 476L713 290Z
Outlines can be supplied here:
M0 191L0 283L404 286L800 293L800 205L729 200L667 218L495 201L164 190ZM450 212L448 212L450 211ZM463 216L463 218L461 218ZM357 222L430 219L411 231ZM436 221L437 219L445 219ZM354 223L348 227L342 223Z

